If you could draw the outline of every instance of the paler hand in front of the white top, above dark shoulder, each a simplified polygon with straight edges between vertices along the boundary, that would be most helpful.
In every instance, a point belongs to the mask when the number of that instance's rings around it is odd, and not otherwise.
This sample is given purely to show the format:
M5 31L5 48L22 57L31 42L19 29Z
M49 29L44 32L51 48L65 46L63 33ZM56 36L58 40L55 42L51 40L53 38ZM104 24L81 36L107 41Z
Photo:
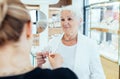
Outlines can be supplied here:
M59 68L63 64L63 58L60 54L49 54L48 59L53 69Z

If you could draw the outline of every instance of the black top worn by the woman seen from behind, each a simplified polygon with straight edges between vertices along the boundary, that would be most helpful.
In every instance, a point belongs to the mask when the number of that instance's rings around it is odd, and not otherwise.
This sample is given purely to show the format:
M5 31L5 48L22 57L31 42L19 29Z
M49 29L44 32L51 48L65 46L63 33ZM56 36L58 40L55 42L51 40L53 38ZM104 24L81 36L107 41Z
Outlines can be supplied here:
M54 70L35 68L34 70L14 76L0 77L0 79L78 79L68 68Z

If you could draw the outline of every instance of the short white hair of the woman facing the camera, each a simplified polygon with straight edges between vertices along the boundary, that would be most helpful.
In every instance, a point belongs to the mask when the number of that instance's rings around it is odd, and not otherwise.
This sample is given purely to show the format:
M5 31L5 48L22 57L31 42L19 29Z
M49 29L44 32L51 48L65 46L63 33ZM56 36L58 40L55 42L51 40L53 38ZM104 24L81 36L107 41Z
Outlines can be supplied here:
M78 19L82 19L82 10L78 10L77 7L74 7L74 6L62 7L61 12L64 10L69 10L75 15L75 17L77 17Z

